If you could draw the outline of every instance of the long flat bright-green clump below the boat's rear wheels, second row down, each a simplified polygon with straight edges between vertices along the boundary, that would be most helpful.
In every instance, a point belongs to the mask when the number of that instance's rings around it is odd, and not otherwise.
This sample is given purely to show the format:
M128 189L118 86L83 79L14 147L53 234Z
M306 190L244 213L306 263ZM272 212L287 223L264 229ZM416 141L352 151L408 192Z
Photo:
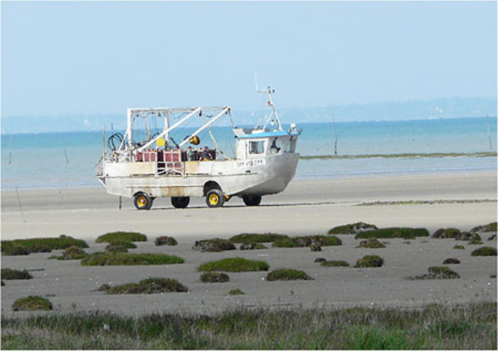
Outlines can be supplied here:
M185 262L183 258L160 253L104 253L89 254L81 260L82 266L139 266L175 264Z

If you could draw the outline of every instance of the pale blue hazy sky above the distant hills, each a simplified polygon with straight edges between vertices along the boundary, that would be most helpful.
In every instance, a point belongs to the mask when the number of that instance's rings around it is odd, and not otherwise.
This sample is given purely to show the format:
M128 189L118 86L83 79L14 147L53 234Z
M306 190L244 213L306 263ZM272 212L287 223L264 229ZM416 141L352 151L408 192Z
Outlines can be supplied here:
M2 116L497 95L496 2L1 1Z

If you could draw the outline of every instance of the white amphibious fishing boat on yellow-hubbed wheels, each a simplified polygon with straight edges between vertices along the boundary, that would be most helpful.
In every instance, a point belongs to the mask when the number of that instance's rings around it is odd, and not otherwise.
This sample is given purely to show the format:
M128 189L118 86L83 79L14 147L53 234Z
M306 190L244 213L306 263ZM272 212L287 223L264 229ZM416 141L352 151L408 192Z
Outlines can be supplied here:
M108 139L110 151L103 137L103 155L96 167L97 178L110 194L132 197L135 207L148 210L156 197L171 197L171 204L185 208L192 196L206 198L209 207L220 207L234 196L247 206L257 206L261 196L276 194L285 189L296 171L299 154L296 143L301 131L291 124L283 130L273 104L269 87L264 89L271 111L262 128L238 128L233 122L235 159L218 149L209 127L231 108L128 108L126 132L114 133ZM174 130L187 120L209 120L180 143L171 137ZM151 120L164 121L160 133L151 135ZM271 121L271 122L270 122ZM145 131L145 138L137 140L135 125ZM199 133L208 129L215 148L197 149ZM104 131L105 135L105 131Z

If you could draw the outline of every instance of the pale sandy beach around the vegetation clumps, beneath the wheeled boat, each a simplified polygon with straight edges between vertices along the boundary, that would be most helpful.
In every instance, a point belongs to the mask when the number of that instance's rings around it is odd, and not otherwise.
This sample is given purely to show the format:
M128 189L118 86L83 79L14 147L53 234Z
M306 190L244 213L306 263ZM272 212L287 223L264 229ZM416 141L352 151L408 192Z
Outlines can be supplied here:
M2 287L2 314L13 314L11 305L19 297L51 296L55 311L110 310L127 314L162 311L211 313L245 306L403 306L417 307L433 302L460 303L495 300L497 295L496 256L473 257L479 247L453 239L387 239L382 249L356 248L359 240L339 235L341 246L271 248L266 250L201 253L191 247L195 240L229 238L252 232L310 235L326 234L336 226L364 221L378 227L424 227L432 234L439 228L470 230L497 220L497 174L459 173L415 176L355 177L344 179L294 180L277 195L263 197L258 207L246 207L233 198L222 208L207 208L203 198L191 199L187 209L175 209L169 198L156 199L149 211L137 211L131 199L108 195L104 188L53 188L47 190L2 191L1 238L57 237L66 234L84 239L87 252L103 251L95 239L110 231L138 231L148 241L137 243L133 252L162 252L183 257L184 264L166 266L83 267L79 261L48 260L52 253L2 256L2 267L43 269L32 272L34 279L6 281ZM381 201L377 205L366 205ZM401 202L399 202L401 201ZM414 201L406 204L403 201ZM431 203L430 201L437 201ZM493 233L482 234L484 245ZM156 247L160 235L173 236L178 246ZM455 250L462 244L465 250ZM352 268L367 254L384 258L381 268ZM264 260L270 269L295 268L307 272L313 281L267 282L266 272L229 273L230 282L205 284L199 281L200 264L225 257ZM317 257L346 260L351 267L321 267ZM444 259L461 261L451 268L461 279L410 281L410 275L427 273L429 266L441 266ZM105 295L94 291L101 284L138 282L152 277L176 278L189 293L157 295ZM231 289L246 293L227 296ZM17 313L18 314L18 313Z

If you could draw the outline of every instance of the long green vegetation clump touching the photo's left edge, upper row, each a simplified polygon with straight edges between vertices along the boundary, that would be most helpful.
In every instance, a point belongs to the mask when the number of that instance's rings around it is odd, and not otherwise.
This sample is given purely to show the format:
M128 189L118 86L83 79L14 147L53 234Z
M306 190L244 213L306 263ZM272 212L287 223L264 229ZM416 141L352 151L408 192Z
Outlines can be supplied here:
M2 240L1 252L4 255L26 255L25 252L27 254L30 252L50 252L51 250L65 249L72 245L83 248L88 247L88 244L83 240L61 235L58 238Z

